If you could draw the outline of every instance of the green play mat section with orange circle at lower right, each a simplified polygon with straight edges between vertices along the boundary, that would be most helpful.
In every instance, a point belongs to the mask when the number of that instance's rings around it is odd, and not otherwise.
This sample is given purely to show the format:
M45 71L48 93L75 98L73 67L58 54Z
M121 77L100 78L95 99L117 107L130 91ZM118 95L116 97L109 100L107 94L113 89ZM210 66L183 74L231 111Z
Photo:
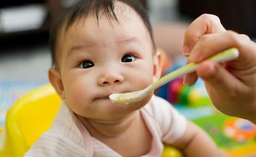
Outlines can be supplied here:
M256 156L256 125L250 121L222 113L192 121L205 130L228 156Z

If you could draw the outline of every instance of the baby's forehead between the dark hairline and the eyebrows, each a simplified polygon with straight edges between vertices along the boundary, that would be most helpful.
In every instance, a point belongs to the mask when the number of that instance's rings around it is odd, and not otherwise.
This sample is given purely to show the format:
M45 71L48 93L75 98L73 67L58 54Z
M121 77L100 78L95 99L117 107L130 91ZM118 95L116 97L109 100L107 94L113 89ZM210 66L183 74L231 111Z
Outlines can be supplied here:
M88 19L85 23L80 21L71 26L60 44L68 50L82 46L96 48L96 46L111 47L115 44L118 47L128 43L143 45L143 43L151 42L150 35L143 23L138 24L137 21L129 21L110 24L105 19L105 21L100 21L97 24L95 20ZM123 21L121 20L121 22Z

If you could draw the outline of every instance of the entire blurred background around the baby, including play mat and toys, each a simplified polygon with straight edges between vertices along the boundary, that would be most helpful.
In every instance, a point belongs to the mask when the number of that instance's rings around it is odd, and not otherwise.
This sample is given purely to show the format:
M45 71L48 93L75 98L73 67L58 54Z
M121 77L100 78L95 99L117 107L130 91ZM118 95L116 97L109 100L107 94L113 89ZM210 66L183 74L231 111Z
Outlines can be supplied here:
M48 69L51 67L48 47L49 28L74 1L2 0L0 2L0 135L6 112L15 101L28 91L49 83L47 78ZM247 34L252 39L256 37L255 0L139 0L139 2L149 11L157 47L162 48L166 53L165 72L171 72L186 63L186 58L181 56L184 32L189 23L203 13L220 17L222 24L228 30ZM239 141L237 136L240 137L240 134L232 136L226 134L225 126L228 126L230 131L230 123L234 126L233 123L237 123L237 119L230 120L230 117L215 114L218 111L211 105L202 81L199 80L194 87L183 87L182 79L177 79L161 87L158 95L175 104L182 114L205 129L218 146L228 150L230 155L232 152L236 155L255 152L256 127L239 120L239 127L253 129L250 136L246 140ZM241 131L239 127L238 130Z

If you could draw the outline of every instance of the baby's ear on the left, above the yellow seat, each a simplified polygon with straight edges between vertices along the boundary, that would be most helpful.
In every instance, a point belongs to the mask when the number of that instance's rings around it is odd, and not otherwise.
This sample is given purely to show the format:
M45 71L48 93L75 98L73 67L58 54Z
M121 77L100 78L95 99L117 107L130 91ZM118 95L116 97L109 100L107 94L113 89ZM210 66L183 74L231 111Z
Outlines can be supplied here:
M55 88L57 93L60 95L60 98L65 99L64 87L62 84L62 79L60 73L55 69L49 69L48 71L49 81L51 85Z

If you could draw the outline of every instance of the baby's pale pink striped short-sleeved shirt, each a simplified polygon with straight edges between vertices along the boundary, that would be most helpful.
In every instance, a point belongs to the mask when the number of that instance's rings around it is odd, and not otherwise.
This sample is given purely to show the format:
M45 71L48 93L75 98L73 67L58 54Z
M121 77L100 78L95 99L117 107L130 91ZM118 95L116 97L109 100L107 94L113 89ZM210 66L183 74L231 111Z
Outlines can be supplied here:
M186 131L186 119L169 102L153 96L140 109L153 137L151 149L143 157L160 157L163 142L172 144ZM25 157L121 157L113 149L90 136L73 111L62 100L51 129L43 133Z

